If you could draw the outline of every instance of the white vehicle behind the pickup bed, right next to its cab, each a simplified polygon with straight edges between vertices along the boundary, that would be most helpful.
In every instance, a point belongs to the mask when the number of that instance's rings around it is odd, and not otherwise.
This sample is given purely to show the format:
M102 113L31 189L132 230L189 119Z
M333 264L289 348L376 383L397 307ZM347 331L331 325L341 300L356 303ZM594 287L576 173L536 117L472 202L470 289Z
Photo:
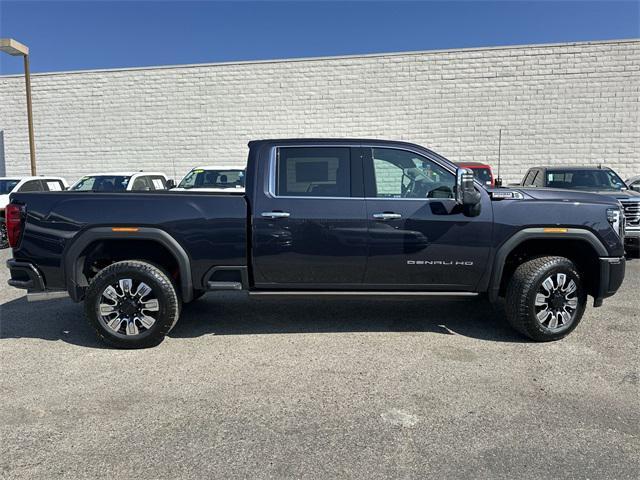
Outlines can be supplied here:
M173 191L244 192L244 168L229 165L196 167Z

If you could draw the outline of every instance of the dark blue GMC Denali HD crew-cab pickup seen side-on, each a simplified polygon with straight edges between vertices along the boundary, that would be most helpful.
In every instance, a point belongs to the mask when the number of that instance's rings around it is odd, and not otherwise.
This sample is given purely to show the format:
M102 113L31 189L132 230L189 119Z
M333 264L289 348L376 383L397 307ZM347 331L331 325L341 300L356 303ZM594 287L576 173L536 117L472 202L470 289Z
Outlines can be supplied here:
M250 142L244 193L12 194L7 232L9 284L84 301L123 348L157 345L183 303L219 290L504 297L516 330L557 340L625 271L615 199L487 189L379 140Z

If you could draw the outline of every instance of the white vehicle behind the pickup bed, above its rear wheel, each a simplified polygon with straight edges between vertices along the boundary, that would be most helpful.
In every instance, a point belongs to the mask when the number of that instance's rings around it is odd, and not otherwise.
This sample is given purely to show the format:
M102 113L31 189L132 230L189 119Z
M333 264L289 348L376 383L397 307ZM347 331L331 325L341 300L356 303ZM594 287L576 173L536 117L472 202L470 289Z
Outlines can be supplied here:
M112 172L85 175L69 190L93 192L149 192L168 190L173 180L162 172Z

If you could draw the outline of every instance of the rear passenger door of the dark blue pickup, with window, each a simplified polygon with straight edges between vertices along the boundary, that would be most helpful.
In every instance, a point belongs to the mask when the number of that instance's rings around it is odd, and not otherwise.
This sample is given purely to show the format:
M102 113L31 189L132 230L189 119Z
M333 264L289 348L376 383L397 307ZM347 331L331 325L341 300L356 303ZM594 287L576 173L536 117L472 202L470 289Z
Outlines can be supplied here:
M367 221L359 149L273 147L266 173L267 191L252 206L256 286L361 285Z

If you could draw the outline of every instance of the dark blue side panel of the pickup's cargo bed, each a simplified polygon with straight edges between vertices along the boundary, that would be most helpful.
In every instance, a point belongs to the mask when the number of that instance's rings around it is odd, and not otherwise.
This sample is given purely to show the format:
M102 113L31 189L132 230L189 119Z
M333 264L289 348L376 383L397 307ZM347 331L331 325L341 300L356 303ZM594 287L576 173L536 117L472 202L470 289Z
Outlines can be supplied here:
M65 253L89 229L114 225L169 234L187 252L195 288L216 266L247 265L247 201L226 193L18 193L27 221L15 260L38 265L47 289L65 288Z

